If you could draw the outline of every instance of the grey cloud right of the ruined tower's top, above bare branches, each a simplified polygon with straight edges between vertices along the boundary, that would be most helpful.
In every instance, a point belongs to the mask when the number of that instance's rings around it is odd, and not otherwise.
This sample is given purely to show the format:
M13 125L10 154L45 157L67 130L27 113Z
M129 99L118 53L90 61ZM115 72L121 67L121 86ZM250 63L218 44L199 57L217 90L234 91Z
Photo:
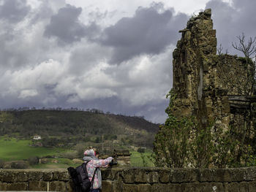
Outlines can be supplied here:
M211 0L206 8L212 9L214 28L217 29L218 45L222 44L224 49L231 54L240 54L232 47L232 42L238 42L236 38L244 32L246 37L256 36L256 1L233 0L228 4L219 0ZM225 51L224 51L225 52Z

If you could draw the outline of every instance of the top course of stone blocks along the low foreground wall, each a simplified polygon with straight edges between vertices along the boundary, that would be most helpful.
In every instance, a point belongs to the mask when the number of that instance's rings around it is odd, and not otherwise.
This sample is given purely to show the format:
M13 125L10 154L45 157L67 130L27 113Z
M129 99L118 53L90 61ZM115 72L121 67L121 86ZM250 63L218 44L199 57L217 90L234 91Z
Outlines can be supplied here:
M230 169L169 169L116 167L102 170L102 180L124 183L195 183L256 181L256 167ZM34 181L69 181L67 169L0 169L0 181L6 183Z

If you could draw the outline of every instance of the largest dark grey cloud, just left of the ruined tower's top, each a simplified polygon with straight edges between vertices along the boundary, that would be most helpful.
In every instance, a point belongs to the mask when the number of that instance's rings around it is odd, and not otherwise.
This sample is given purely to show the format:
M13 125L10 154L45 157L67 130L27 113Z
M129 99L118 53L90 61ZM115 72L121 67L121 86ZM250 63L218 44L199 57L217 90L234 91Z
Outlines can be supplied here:
M110 63L121 63L142 53L159 54L178 39L178 29L184 28L187 15L174 15L173 9L162 4L139 7L132 18L121 18L105 28L100 42L114 48Z

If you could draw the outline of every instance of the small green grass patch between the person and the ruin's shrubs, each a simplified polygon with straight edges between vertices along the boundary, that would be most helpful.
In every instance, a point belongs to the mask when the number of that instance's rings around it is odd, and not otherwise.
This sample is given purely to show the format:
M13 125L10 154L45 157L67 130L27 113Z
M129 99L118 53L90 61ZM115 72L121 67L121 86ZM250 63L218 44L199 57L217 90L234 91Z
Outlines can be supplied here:
M146 150L145 153L138 153L137 151L130 151L131 155L131 166L154 166L154 163L151 161L151 150ZM144 161L143 161L144 158Z

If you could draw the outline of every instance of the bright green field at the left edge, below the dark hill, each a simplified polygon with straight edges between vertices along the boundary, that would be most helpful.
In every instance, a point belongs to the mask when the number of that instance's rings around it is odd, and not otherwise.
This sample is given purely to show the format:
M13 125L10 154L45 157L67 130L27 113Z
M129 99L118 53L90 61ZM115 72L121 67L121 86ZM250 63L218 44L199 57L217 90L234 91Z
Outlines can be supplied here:
M30 140L0 137L0 159L23 160L34 156L56 155L65 151L61 148L31 147L30 142Z

